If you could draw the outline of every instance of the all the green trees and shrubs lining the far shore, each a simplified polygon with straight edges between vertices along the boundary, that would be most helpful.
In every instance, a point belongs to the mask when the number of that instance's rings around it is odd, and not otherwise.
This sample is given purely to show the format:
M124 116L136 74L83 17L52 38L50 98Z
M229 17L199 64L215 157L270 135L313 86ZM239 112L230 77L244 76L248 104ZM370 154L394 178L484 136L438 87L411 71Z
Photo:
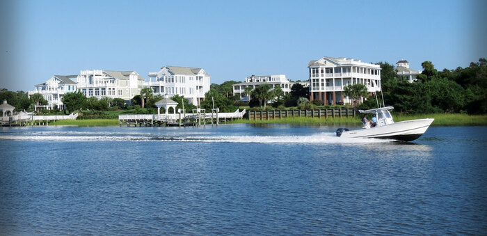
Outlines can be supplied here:
M379 100L384 97L385 104L394 107L401 113L487 113L487 60L480 58L477 63L470 63L467 68L458 67L455 70L438 71L431 61L422 63L423 71L417 75L413 83L401 78L394 65L387 62L381 65L382 94L377 94ZM234 112L241 106L258 109L314 109L321 105L321 101L309 101L308 87L296 83L291 92L285 94L280 86L271 88L270 84L263 84L255 88L247 87L243 95L250 96L250 102L241 102L241 94L233 95L232 86L237 81L225 81L223 84L211 84L205 94L205 100L200 103L203 109L219 108L221 112ZM353 106L360 109L377 107L377 100L369 96L367 88L362 84L344 87L344 93L353 100ZM366 97L365 102L358 102ZM140 95L131 99L127 105L121 98L86 97L80 92L67 93L62 101L65 112L70 113L83 109L108 111L110 109L136 109L137 113L157 113L155 103L163 99L161 95L154 95L151 88L143 88ZM179 95L171 97L179 103L177 109L182 108L191 112L196 107L187 99ZM7 100L17 110L33 111L36 105L46 105L48 102L40 94L30 97L24 91L8 91L0 89L0 101ZM272 100L271 104L268 101Z

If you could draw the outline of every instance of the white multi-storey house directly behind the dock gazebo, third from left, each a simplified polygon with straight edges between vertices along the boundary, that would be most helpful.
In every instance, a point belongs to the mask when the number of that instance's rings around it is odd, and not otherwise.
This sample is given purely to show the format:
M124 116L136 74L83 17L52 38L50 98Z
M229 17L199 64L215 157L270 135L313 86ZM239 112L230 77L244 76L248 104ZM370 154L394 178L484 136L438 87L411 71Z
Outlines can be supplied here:
M159 72L149 72L149 77L144 87L152 88L154 95L184 96L195 106L200 105L209 91L210 75L201 68L166 65Z

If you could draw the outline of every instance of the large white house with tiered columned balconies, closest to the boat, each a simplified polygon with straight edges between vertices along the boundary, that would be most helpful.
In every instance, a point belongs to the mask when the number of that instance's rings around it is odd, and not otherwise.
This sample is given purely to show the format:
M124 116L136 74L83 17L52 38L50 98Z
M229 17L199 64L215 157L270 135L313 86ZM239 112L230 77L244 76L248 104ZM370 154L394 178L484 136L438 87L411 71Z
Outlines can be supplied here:
M381 91L381 66L351 58L325 56L310 61L310 101L351 104L344 94L347 84L365 84L370 93Z

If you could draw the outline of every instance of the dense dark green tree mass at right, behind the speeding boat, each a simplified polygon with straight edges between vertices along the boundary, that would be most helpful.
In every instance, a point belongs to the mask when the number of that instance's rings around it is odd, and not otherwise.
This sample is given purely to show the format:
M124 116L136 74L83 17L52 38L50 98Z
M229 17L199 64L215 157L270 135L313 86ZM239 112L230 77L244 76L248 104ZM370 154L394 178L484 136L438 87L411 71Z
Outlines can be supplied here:
M394 66L381 65L385 104L401 113L487 113L487 60L480 58L467 68L438 71L431 61L422 63L423 71L413 83L401 78ZM381 95L379 95L381 96ZM361 109L376 107L370 97Z

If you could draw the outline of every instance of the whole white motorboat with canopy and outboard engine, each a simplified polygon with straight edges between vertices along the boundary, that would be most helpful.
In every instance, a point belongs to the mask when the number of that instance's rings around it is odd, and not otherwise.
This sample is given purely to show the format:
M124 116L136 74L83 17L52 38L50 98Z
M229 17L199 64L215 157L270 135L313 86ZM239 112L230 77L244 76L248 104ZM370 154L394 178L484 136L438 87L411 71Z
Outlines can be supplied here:
M433 123L431 118L404 120L394 122L389 111L394 107L381 107L377 109L370 109L366 111L359 110L360 113L374 113L377 117L375 127L370 127L366 123L362 129L349 130L340 128L337 129L337 136L348 138L376 138L376 139L395 139L400 141L413 141L428 129L429 125Z

